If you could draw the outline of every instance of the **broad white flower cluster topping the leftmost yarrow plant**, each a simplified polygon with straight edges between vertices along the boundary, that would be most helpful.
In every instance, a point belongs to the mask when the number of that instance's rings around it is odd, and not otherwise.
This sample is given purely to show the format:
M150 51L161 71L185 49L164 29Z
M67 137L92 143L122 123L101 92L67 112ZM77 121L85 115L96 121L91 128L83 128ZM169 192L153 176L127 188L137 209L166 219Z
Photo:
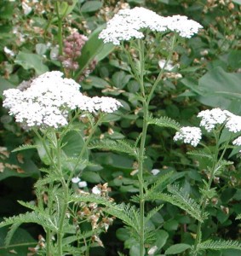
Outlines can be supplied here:
M9 108L16 122L31 128L58 128L67 124L70 110L112 113L122 106L110 97L83 96L73 79L63 79L63 73L52 71L34 79L26 90L4 90L3 107Z

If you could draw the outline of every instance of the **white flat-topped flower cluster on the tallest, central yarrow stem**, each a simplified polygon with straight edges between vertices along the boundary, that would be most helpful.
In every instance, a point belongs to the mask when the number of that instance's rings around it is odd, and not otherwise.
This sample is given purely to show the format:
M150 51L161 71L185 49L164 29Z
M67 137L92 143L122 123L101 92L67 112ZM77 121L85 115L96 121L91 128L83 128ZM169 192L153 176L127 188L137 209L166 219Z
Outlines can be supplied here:
M186 16L174 15L163 17L142 7L121 9L107 22L106 29L99 38L104 43L119 45L121 41L131 38L144 38L143 29L152 32L177 32L183 38L191 38L202 28L198 22L188 20Z

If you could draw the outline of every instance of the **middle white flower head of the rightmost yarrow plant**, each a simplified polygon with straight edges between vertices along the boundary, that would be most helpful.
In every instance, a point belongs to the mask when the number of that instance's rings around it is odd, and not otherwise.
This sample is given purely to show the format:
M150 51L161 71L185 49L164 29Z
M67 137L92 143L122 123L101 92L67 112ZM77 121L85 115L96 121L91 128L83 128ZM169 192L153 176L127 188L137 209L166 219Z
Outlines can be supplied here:
M215 125L224 124L229 114L231 113L227 110L221 110L221 108L201 111L198 113L198 117L201 118L200 126L204 126L206 131L212 131Z

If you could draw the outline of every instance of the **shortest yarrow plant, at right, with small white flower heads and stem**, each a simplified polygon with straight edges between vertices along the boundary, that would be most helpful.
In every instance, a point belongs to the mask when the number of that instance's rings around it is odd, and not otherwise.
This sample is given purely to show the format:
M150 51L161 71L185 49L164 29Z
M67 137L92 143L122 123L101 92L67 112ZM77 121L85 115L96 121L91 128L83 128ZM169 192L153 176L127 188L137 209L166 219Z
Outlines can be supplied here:
M202 132L199 127L182 127L180 131L177 131L174 137L175 141L183 141L183 143L191 144L193 147L197 147L198 144L204 147L204 150L192 151L189 154L193 156L201 156L203 159L208 160L206 175L208 178L207 182L204 182L204 188L200 189L201 199L198 202L201 206L199 209L200 216L206 218L206 208L212 203L212 200L216 196L215 188L213 183L215 180L219 180L219 176L222 175L223 170L227 166L232 165L231 161L224 160L224 156L228 148L232 148L230 142L234 146L241 146L241 137L237 137L237 133L241 131L241 117L233 114L227 110L221 110L221 108L213 108L201 111L198 113L200 118L200 127L204 128L205 133L213 134L215 138L215 149L206 147L201 143ZM204 134L205 134L204 133ZM227 133L229 138L225 141L221 140L221 135ZM236 137L236 138L235 138ZM233 138L235 138L233 140ZM240 151L239 151L240 152ZM202 241L202 224L203 220L198 220L197 236L191 250L191 254L197 256L199 254L199 247L205 244ZM206 249L217 247L225 248L232 247L240 249L238 244L234 245L234 241L217 241L214 244L209 244ZM227 243L227 245L225 244Z

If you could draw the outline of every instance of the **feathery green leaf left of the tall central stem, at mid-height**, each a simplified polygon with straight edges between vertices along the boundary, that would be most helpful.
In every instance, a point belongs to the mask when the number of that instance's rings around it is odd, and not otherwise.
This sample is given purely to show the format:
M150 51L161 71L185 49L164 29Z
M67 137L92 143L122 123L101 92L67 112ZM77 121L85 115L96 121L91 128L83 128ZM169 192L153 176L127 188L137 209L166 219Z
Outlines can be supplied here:
M135 148L134 145L123 140L112 141L106 139L101 141L95 141L89 144L89 148L100 148L108 149L111 151L123 152L132 155L135 158L137 158L139 154L138 148Z

